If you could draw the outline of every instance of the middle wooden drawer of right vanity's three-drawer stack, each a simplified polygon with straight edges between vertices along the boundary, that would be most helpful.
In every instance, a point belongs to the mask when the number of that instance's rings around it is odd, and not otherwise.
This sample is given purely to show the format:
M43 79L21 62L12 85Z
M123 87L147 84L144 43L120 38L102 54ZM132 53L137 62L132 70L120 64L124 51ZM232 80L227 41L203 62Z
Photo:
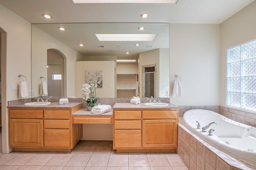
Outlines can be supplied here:
M115 120L115 129L141 129L141 120Z

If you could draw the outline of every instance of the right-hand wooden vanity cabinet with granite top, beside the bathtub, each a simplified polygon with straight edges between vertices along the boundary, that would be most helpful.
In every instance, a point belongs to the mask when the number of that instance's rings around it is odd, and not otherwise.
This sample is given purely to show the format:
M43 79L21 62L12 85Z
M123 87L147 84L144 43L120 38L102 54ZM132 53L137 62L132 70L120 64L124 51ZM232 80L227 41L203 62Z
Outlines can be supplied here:
M178 107L117 103L113 117L113 149L117 152L176 152Z

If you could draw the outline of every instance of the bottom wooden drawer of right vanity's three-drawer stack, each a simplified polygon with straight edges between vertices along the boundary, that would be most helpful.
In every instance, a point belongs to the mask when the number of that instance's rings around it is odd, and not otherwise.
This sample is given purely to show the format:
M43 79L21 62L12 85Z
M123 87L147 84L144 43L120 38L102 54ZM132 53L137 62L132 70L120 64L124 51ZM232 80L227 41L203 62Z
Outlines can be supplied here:
M141 130L115 130L116 148L141 147Z

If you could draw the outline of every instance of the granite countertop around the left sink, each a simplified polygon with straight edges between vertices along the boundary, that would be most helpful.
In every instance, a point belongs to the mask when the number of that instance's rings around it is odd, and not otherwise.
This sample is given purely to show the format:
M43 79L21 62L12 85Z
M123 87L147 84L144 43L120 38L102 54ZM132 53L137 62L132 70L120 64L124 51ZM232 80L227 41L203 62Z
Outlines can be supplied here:
M68 104L59 104L59 102L51 102L48 105L41 105L41 106L26 106L24 104L16 104L8 107L22 107L22 108L73 108L78 105L82 104L82 102L73 102Z

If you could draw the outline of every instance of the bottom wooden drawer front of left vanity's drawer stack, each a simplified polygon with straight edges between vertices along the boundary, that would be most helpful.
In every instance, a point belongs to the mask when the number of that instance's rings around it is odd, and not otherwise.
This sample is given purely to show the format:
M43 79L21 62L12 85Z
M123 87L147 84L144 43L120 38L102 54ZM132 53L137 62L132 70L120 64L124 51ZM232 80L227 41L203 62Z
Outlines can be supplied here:
M44 129L45 147L70 147L70 129Z

